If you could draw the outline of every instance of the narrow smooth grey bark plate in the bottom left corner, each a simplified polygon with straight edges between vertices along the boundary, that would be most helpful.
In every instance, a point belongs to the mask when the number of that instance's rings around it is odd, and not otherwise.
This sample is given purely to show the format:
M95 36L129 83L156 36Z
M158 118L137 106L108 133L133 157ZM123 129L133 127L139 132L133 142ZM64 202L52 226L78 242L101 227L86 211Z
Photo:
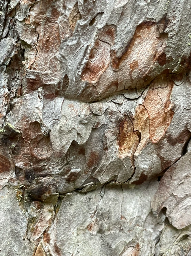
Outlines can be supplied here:
M23 240L27 234L27 214L20 207L21 188L5 185L0 192L0 255L22 255Z

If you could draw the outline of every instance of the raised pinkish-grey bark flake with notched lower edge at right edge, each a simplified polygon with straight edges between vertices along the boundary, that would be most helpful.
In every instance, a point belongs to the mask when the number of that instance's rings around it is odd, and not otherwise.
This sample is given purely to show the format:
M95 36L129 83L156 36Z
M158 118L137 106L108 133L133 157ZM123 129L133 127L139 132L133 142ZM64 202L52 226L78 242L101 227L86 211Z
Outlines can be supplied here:
M153 212L156 213L166 207L170 223L178 229L191 224L190 161L191 155L188 152L168 169L152 203ZM165 193L161 193L161 189Z

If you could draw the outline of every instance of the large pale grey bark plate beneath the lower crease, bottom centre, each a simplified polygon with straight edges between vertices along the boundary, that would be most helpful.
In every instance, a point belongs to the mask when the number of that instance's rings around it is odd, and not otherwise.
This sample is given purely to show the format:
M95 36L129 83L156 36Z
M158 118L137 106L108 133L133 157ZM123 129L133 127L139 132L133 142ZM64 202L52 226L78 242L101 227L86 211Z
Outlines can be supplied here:
M67 256L129 255L139 250L141 255L152 255L165 219L162 214L154 218L150 212L157 187L155 181L141 186L105 185L87 194L67 193L50 243L56 242L61 255Z

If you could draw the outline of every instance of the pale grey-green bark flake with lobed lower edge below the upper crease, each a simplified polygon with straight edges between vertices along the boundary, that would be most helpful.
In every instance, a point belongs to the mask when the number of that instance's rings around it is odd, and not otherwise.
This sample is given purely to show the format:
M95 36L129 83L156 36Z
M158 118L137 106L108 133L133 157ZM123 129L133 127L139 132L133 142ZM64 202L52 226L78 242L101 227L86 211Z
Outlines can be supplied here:
M89 104L65 100L60 124L55 127L50 137L54 152L65 155L73 140L79 145L84 144L90 136L95 121L96 117L91 112Z

